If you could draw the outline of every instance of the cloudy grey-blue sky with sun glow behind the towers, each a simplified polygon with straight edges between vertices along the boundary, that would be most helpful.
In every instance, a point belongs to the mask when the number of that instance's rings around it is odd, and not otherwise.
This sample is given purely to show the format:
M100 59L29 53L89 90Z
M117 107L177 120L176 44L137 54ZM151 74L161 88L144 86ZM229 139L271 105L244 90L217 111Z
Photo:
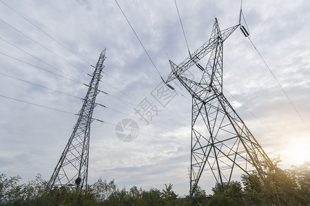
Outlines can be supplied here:
M87 73L107 49L105 93L96 98L105 107L93 113L105 123L92 122L88 183L114 179L118 188L145 190L171 183L176 194L188 194L191 97L177 80L169 99L156 97L169 60L189 55L176 4L117 2L143 46L116 1L0 1L0 173L21 183L38 173L50 179L83 104ZM215 18L221 29L239 21L240 1L176 3L191 52L208 41ZM224 43L224 94L284 169L309 161L309 10L309 1L242 2L241 23L269 68L239 29ZM136 110L146 102L152 115L143 119ZM118 138L122 120L138 126L133 141ZM199 185L211 193L214 179L207 179Z

